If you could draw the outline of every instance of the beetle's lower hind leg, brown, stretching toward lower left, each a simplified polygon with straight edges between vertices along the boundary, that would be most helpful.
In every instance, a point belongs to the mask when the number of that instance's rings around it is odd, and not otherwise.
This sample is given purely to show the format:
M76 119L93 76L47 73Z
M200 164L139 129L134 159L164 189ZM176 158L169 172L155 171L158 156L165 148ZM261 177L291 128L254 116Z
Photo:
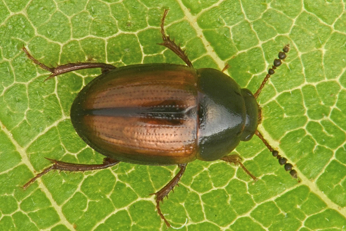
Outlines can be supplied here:
M47 160L51 161L53 165L49 166L48 168L45 168L42 172L37 174L35 177L31 178L25 185L23 185L23 188L26 189L31 183L33 183L37 178L41 177L42 175L46 174L52 169L60 170L60 171L90 171L90 170L96 170L96 169L104 169L111 167L113 165L116 165L119 163L119 160L115 160L109 157L103 158L103 163L100 165L84 165L84 164L78 164L78 163L68 163L63 162L59 160L53 160L46 158Z

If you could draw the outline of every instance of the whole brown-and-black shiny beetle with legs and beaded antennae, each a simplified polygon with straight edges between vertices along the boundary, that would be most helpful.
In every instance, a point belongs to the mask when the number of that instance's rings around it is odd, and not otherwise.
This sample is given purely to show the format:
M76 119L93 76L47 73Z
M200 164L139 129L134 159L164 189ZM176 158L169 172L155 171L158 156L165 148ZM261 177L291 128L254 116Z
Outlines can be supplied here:
M185 52L165 34L167 12L164 11L161 20L163 43L160 45L172 50L187 66L155 63L116 68L106 63L69 63L49 68L31 56L25 47L22 48L35 64L52 72L47 79L74 70L101 68L102 74L88 83L75 98L70 117L78 135L91 148L106 156L99 165L47 158L53 165L30 179L24 188L52 169L87 171L108 168L120 161L142 165L177 164L180 171L154 193L157 212L170 227L160 210L160 201L173 190L188 162L220 159L239 164L256 179L242 165L239 156L228 155L240 141L248 141L254 134L279 159L285 170L297 178L293 166L257 131L261 107L256 98L276 67L281 65L281 60L285 59L289 45L279 52L279 59L274 60L260 88L252 94L219 70L194 69Z

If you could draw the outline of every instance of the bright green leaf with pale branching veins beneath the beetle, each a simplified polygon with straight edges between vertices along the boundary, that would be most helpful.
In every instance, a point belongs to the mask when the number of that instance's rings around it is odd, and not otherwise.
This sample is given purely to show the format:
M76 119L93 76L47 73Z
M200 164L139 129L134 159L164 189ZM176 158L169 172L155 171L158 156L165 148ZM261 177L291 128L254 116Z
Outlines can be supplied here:
M149 194L176 166L121 162L99 171L49 172L21 188L50 165L44 157L103 159L69 118L74 97L100 70L43 82L49 73L21 47L48 66L184 64L157 45L164 8L170 8L166 32L195 68L221 70L228 63L228 74L252 92L290 44L259 97L258 130L299 178L253 137L234 153L256 182L226 162L189 163L180 187L161 204L167 220L182 230L345 230L346 14L340 0L1 1L0 230L165 230Z

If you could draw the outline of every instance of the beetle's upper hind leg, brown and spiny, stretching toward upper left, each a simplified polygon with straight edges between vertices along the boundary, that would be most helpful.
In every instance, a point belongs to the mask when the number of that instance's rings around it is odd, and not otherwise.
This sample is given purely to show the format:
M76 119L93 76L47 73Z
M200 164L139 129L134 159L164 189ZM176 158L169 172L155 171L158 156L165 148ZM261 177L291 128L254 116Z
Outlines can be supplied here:
M113 66L111 64L107 63L67 63L64 65L56 66L55 68L50 68L49 66L46 66L45 64L39 62L37 59L35 59L29 52L26 50L26 48L23 46L22 50L26 53L29 59L31 59L35 64L39 65L40 68L50 71L52 74L49 75L47 79L44 81L53 78L54 76L67 73L70 71L76 71L81 69L88 69L88 68L101 68L102 73L107 72L109 70L115 69L116 66Z

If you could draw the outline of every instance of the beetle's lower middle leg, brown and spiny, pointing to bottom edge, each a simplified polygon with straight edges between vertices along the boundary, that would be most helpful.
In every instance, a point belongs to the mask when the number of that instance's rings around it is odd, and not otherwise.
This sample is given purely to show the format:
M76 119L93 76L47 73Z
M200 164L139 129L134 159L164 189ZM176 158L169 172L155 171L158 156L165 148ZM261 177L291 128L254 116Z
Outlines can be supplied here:
M165 198L165 196L168 196L168 194L171 192L171 190L173 190L174 186L178 184L178 181L180 180L180 178L184 174L184 171L186 169L186 165L187 165L187 163L179 164L178 167L180 168L180 171L177 173L177 175L175 175L175 177L168 184L166 184L163 188L161 188L160 191L150 194L150 195L153 195L153 194L156 195L155 201L156 201L157 213L158 213L158 215L161 216L162 220L165 221L167 228L171 227L171 225L166 220L165 216L161 212L160 201L163 201L163 198Z

